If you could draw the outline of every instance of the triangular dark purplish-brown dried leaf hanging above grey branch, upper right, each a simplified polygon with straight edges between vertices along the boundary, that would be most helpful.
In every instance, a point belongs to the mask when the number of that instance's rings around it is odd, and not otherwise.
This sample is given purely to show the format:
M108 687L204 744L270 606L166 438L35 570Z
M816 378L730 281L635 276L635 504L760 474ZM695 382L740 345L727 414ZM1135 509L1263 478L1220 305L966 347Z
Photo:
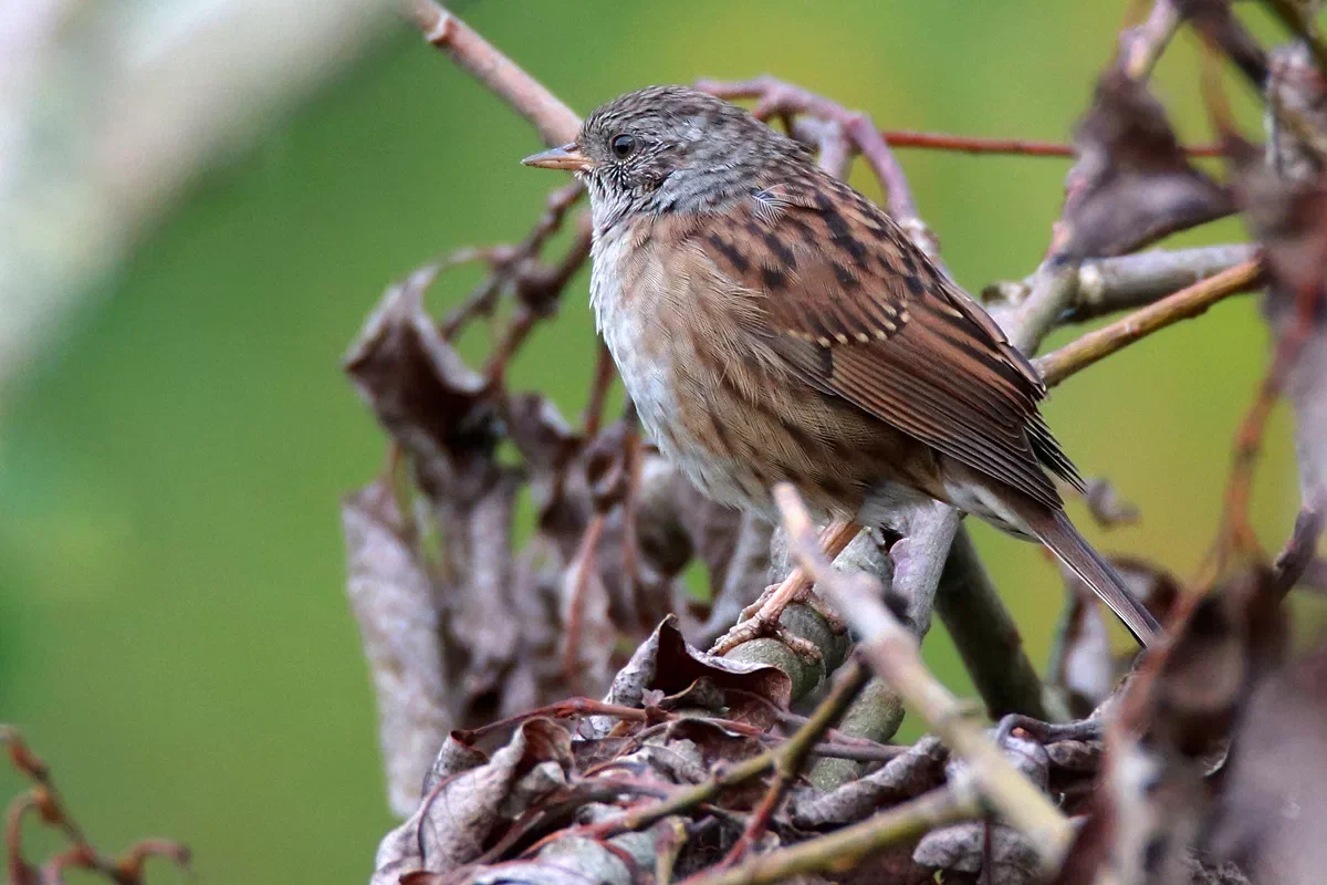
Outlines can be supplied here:
M1226 190L1185 158L1147 86L1119 70L1097 82L1075 143L1056 257L1124 255L1233 211Z

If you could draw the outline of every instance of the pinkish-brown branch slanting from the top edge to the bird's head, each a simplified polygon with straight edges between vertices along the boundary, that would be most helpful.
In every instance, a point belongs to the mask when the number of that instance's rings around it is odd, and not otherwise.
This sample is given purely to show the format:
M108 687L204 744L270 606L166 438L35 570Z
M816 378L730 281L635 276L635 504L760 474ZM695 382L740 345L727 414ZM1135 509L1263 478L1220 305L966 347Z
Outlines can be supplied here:
M545 145L565 145L576 138L580 129L576 113L466 23L433 0L407 0L406 9L425 40L504 98L539 130Z

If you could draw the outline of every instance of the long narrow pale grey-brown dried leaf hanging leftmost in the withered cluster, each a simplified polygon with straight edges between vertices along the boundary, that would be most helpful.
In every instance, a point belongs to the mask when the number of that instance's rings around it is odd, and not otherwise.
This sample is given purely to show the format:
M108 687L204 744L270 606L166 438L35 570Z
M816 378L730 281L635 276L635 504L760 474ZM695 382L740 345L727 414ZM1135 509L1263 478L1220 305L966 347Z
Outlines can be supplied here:
M387 800L402 817L419 804L419 788L438 746L455 722L438 638L433 588L401 513L382 480L341 506L346 541L346 594L360 624L378 699L378 736Z

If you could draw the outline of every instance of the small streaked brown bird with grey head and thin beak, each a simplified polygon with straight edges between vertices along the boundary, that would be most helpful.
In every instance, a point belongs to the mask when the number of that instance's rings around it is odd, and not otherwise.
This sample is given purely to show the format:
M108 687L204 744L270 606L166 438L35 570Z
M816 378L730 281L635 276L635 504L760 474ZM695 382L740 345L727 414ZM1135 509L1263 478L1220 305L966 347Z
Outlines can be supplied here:
M529 166L593 216L591 304L640 419L709 496L792 483L880 525L933 498L1040 539L1140 642L1156 621L1064 513L1083 480L999 326L865 196L742 107L681 86L602 105ZM1050 474L1050 475L1048 475Z

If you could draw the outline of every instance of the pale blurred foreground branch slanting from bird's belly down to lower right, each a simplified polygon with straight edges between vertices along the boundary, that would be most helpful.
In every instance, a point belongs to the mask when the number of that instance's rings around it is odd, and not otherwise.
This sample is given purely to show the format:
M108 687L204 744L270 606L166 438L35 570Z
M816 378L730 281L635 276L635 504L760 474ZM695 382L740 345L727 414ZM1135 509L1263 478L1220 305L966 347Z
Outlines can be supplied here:
M930 723L941 740L969 763L982 796L1032 841L1044 866L1055 869L1072 839L1068 820L1005 759L981 726L965 715L958 698L926 669L917 637L880 601L878 582L833 569L816 541L811 516L796 490L782 483L775 487L774 496L788 529L791 549L861 636L861 655Z

